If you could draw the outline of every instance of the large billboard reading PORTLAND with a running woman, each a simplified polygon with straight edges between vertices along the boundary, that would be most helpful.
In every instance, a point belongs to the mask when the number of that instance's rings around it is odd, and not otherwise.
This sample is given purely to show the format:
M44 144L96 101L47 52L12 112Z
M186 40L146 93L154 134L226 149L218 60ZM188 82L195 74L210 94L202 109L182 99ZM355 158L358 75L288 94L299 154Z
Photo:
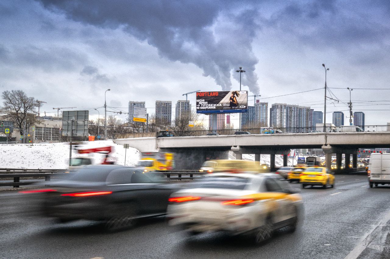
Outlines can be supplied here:
M196 112L203 114L248 112L248 91L197 92Z

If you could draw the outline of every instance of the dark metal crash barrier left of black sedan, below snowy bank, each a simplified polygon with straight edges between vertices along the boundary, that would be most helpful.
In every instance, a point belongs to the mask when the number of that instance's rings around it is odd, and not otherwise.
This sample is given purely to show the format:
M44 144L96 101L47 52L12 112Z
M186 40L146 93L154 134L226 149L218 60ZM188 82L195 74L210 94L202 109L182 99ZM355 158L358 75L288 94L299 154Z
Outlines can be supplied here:
M0 182L0 186L13 186L14 188L17 188L21 185L29 185L36 182L43 182L43 181L50 181L51 177L61 177L69 175L69 173L58 173L58 172L43 172L43 173L37 173L37 172L23 172L23 171L13 171L12 173L0 173L0 179L2 178L13 178L13 181L5 181ZM28 179L23 182L20 181L21 178L26 177L44 177L43 179Z

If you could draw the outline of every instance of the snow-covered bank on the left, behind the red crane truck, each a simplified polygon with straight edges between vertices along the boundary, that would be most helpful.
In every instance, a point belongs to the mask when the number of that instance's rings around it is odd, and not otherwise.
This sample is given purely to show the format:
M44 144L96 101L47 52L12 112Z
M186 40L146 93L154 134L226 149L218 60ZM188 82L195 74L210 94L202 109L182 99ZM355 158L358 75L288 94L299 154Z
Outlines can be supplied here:
M123 145L115 144L112 140L85 142L83 149L92 147L113 146L112 161L124 165L125 150ZM104 154L77 154L73 150L72 157L86 156L103 161ZM129 147L126 152L126 165L133 166L140 159L140 152ZM27 168L27 169L66 169L69 165L69 143L48 144L15 144L0 145L0 168Z

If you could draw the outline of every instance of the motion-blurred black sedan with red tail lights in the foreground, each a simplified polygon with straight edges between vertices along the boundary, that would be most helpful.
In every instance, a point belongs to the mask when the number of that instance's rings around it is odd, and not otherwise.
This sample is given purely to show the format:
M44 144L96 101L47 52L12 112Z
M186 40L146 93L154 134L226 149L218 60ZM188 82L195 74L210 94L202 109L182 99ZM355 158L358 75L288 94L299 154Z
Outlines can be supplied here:
M158 175L119 165L85 166L41 190L43 214L60 222L102 221L110 230L132 226L138 218L166 213L177 189Z

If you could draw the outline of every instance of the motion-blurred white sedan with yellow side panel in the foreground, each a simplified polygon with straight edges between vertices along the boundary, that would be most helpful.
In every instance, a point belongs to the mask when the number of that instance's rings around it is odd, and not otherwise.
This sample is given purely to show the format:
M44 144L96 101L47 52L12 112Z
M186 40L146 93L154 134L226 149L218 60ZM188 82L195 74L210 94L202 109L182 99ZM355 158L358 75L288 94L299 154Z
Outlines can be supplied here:
M296 229L298 192L275 173L215 173L170 196L168 223L191 235L225 231L261 243L277 229Z

